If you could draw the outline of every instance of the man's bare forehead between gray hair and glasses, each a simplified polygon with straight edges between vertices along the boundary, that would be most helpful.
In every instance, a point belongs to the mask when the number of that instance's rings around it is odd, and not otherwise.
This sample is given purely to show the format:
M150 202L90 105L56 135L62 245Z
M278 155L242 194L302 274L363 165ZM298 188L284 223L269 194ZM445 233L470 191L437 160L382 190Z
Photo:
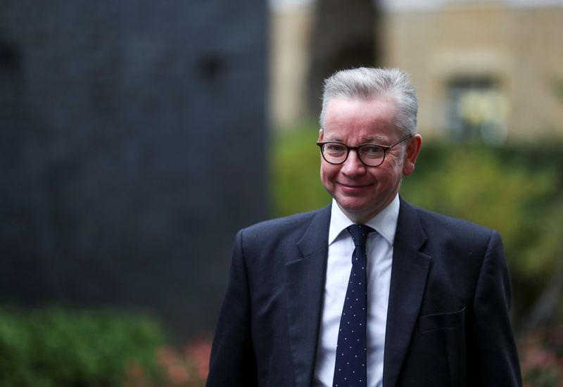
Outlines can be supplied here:
M388 141L400 135L395 103L386 98L332 99L325 112L324 139Z

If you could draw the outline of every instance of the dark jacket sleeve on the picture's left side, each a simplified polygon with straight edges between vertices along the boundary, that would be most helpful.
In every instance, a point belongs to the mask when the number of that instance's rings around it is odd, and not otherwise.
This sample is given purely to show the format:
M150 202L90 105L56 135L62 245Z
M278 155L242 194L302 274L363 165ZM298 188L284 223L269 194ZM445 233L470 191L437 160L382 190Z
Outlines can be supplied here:
M205 386L257 386L251 336L251 302L243 253L243 230L236 234L227 295L211 350Z

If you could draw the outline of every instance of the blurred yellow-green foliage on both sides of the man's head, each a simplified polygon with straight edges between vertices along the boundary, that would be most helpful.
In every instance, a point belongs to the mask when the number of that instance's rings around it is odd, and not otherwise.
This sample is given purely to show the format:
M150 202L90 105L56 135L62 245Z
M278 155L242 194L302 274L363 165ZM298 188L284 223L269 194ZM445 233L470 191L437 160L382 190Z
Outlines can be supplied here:
M320 208L330 198L319 178L316 129L274 138L275 216ZM560 144L489 148L423 144L401 195L414 205L498 229L512 274L515 309L531 307L563 259L563 154Z

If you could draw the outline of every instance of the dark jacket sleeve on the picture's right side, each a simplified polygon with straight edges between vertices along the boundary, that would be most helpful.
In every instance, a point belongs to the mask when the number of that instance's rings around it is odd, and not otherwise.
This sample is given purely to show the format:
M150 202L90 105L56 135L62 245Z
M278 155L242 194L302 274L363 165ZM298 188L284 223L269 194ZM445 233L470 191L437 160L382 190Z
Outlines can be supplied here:
M474 293L468 332L470 386L521 386L517 347L510 325L510 277L502 241L493 231Z

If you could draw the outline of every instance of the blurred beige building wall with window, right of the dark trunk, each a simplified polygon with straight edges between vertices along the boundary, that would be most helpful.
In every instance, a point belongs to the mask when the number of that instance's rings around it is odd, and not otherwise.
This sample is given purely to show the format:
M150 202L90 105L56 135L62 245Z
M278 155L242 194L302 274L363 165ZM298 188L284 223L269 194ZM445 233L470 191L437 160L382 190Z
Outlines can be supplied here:
M386 13L384 65L411 75L419 132L563 136L563 5L448 1Z

